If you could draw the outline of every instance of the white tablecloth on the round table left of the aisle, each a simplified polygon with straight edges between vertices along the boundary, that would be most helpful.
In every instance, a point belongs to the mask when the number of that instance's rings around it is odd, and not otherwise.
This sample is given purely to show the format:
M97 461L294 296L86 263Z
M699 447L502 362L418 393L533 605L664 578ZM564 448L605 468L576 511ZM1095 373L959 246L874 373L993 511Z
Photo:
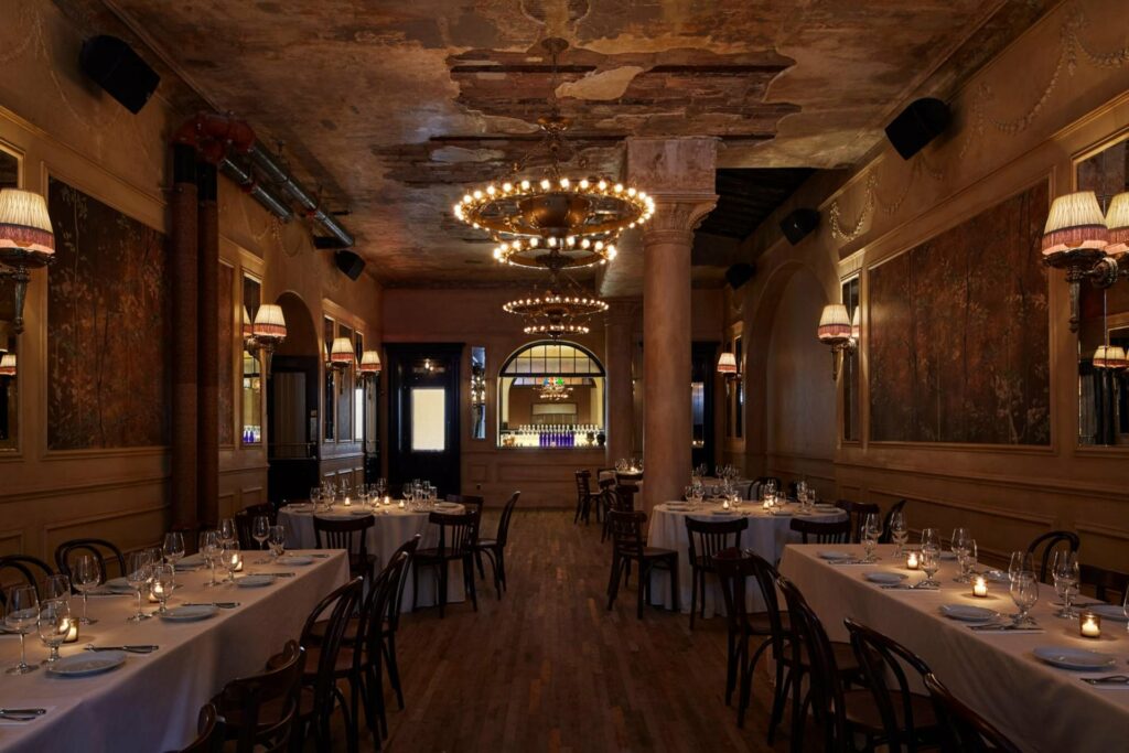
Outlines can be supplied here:
M461 505L447 513L464 513ZM343 507L334 506L330 513L318 513L318 517L338 520L352 519L353 516ZM422 534L420 548L437 546L439 544L439 526L428 523L428 513L413 510L401 510L395 505L382 507L376 514L376 522L368 529L368 553L377 558L377 567L383 568L402 544L410 541L415 534ZM305 506L299 506L297 510L283 507L279 510L279 523L286 526L287 548L313 549L317 545L317 536L314 534L314 515ZM412 573L408 573L408 583L404 586L403 611L410 612L412 608ZM435 568L427 568L420 571L420 597L419 606L431 606L435 599ZM453 604L464 601L465 590L463 588L463 566L458 562L450 564L447 575L447 603Z

